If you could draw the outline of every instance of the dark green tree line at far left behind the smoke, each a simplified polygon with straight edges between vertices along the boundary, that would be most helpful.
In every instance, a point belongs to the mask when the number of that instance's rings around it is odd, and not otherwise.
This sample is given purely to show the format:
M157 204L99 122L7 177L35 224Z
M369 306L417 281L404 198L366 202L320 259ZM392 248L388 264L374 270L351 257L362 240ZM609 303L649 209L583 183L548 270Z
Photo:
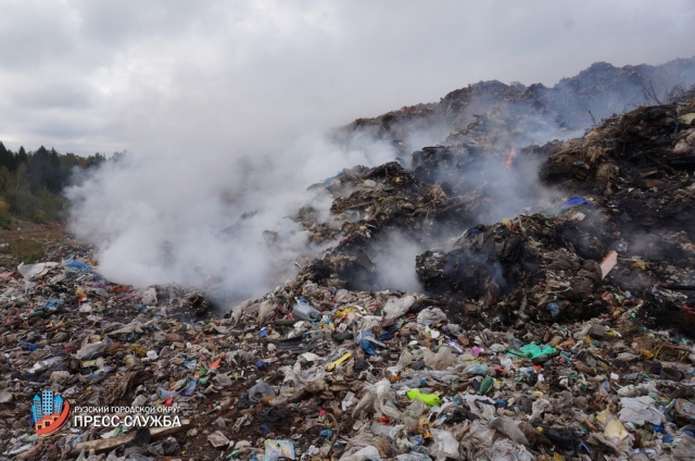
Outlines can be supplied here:
M96 167L105 160L101 153L79 157L43 146L13 152L0 141L0 227L8 228L13 217L61 221L66 205L61 191L75 169Z

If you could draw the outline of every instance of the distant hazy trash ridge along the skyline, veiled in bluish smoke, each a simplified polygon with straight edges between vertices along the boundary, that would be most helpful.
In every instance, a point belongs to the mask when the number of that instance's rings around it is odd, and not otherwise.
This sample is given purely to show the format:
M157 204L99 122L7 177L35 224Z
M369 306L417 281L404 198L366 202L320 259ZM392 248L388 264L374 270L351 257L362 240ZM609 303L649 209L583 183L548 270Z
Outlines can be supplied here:
M695 84L692 79L694 71L694 58L656 66L615 67L597 62L553 87L479 82L451 91L438 103L404 107L378 117L358 119L346 128L348 133L366 132L402 147L409 144L414 133L434 130L446 137L451 132L455 136L477 116L502 110L520 120L528 128L522 133L528 136L547 130L548 126L583 130L592 123L639 104L672 102Z

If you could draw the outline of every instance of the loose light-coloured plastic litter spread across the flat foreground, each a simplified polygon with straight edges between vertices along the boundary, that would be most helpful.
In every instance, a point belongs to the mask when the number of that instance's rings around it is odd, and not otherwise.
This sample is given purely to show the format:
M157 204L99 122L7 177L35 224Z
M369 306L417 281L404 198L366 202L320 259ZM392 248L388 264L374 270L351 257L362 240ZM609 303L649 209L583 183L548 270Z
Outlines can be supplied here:
M110 284L88 250L52 256L54 263L2 274L5 457L695 456L695 345L646 328L646 300L629 294L605 292L612 311L587 321L530 315L493 329L480 306L464 307L477 319L464 327L425 295L306 281L201 320L184 290ZM166 408L180 425L76 427L71 420L38 436L30 407L47 388L73 409Z

